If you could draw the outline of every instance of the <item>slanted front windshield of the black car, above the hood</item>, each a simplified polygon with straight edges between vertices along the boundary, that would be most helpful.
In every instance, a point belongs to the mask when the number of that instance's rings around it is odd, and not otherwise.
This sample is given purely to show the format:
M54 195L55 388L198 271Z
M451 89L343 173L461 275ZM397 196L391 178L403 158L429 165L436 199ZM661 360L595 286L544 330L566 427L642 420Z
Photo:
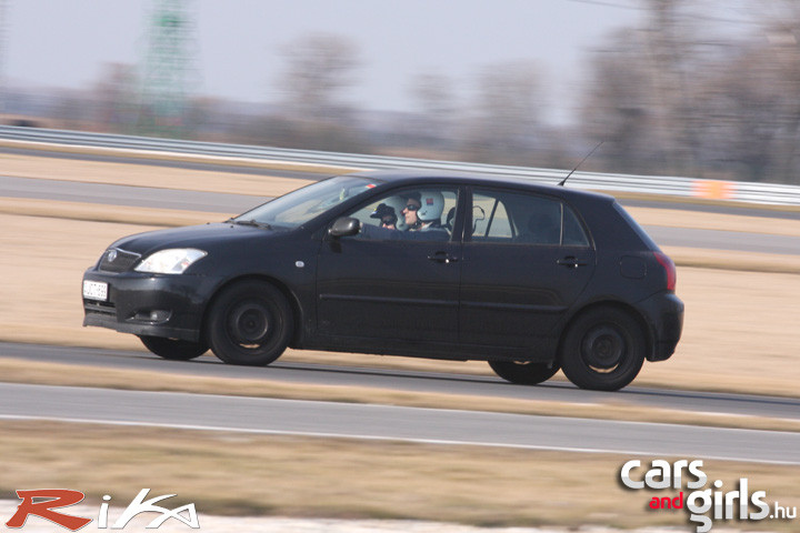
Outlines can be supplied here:
M374 184L374 180L353 175L331 178L276 198L232 222L272 229L297 228Z

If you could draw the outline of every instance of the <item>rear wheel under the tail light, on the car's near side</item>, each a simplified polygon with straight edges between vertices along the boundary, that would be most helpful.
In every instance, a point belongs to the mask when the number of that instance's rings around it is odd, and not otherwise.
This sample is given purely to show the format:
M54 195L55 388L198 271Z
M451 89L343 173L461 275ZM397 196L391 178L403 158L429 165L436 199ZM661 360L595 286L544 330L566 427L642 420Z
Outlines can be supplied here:
M618 391L639 374L647 340L639 322L616 308L579 315L561 344L561 369L581 389Z

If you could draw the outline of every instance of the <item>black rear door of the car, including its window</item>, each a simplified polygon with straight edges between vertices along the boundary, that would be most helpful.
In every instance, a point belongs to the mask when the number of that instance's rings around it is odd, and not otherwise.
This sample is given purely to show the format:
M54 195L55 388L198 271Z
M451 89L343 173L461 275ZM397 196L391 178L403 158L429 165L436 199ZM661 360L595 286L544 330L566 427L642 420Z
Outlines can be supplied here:
M471 203L460 341L533 346L586 288L594 251L574 212L558 199L477 189Z

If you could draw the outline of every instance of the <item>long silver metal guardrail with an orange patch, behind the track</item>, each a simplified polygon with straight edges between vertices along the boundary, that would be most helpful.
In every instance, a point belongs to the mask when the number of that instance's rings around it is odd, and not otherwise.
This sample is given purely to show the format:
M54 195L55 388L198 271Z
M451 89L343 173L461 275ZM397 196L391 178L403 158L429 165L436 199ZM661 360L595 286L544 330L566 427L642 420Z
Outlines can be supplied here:
M292 150L244 144L181 141L147 137L114 135L82 131L44 130L0 125L0 139L20 143L38 143L61 147L93 147L141 153L179 154L206 159L242 160L253 162L282 162L339 167L342 169L427 169L453 172L480 172L527 178L542 183L558 183L567 175L566 170L507 167L454 161L434 161L409 158ZM679 177L653 177L631 174L602 174L576 172L570 187L603 191L669 194L713 200L729 200L773 205L800 205L800 187L774 183L702 180Z

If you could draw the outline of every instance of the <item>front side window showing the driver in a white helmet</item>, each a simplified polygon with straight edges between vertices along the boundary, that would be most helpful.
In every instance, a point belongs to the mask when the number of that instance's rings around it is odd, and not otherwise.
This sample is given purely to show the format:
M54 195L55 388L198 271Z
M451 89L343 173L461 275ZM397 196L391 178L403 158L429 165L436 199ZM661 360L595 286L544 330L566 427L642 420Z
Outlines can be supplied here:
M447 241L457 204L457 189L409 188L381 195L348 217L361 222L357 239Z

